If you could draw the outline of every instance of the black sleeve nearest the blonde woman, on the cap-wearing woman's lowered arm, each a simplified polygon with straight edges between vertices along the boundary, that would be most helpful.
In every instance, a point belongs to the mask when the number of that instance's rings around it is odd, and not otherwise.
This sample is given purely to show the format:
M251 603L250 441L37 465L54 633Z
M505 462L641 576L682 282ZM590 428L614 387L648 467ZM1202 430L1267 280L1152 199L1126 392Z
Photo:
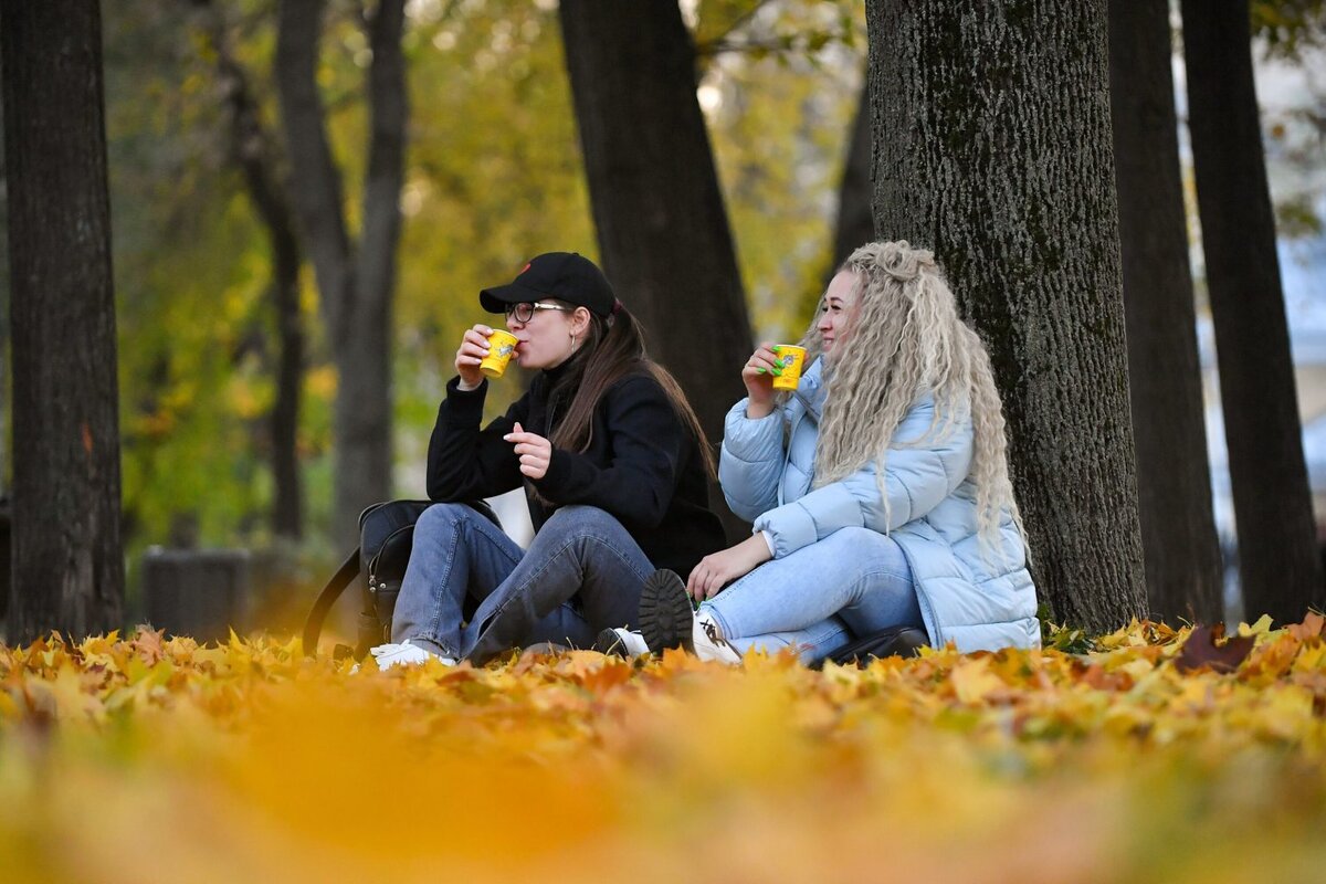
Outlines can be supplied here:
M652 378L618 383L599 408L611 463L599 467L585 455L554 448L548 473L534 486L556 504L587 504L626 525L656 527L672 505L688 431Z

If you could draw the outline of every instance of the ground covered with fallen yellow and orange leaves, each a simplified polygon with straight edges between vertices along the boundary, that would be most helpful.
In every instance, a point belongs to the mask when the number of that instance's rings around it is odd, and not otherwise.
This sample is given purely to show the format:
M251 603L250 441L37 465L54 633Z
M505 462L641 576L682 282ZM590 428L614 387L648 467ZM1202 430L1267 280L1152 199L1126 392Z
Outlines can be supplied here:
M1315 883L1322 627L823 672L0 645L0 879Z

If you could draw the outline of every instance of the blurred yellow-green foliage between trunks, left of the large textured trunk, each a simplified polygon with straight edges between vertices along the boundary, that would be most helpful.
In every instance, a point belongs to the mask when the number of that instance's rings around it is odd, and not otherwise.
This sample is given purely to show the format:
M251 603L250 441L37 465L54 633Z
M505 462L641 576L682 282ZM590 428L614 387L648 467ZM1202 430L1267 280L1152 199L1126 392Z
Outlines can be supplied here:
M220 4L225 37L281 130L274 0ZM359 4L333 0L318 73L346 213L358 224L365 74ZM865 65L847 1L683 4L700 90L761 337L800 333L827 269L846 133ZM422 494L423 455L475 293L530 254L597 256L556 4L415 0L404 36L410 129L395 301L396 494ZM126 539L268 545L265 415L276 335L264 231L227 158L215 56L187 3L105 11L106 110L119 309ZM640 109L648 113L648 109ZM631 121L622 121L630 126ZM335 372L302 277L310 359L300 423L309 539L330 508ZM518 387L491 398L500 410ZM504 395L501 395L504 394Z

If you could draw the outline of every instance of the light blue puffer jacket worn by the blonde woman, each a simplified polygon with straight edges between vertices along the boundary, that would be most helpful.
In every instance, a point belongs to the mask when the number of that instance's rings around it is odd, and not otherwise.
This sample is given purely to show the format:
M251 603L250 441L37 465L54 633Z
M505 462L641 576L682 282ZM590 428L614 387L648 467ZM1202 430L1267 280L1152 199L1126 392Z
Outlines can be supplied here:
M839 527L887 531L907 555L926 631L935 647L959 651L1040 647L1036 587L1022 538L1005 513L997 549L976 535L976 488L967 478L972 428L920 445L935 404L922 398L898 427L884 464L888 516L875 465L812 490L815 440L823 410L821 362L814 362L785 406L766 417L745 416L743 399L728 412L719 480L728 505L773 538L776 558Z

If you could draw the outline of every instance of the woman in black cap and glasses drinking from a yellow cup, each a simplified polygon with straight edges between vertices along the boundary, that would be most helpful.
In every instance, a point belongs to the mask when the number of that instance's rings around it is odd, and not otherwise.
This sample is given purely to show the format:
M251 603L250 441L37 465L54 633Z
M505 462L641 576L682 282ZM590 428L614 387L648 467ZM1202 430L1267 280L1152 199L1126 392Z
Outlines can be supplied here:
M529 391L480 427L485 325L465 331L428 444L428 498L378 667L469 659L514 647L589 647L635 626L644 580L724 546L708 509L713 455L676 382L603 273L575 253L533 258L480 304L505 313ZM534 539L521 550L459 501L524 484ZM463 624L467 595L479 603Z

